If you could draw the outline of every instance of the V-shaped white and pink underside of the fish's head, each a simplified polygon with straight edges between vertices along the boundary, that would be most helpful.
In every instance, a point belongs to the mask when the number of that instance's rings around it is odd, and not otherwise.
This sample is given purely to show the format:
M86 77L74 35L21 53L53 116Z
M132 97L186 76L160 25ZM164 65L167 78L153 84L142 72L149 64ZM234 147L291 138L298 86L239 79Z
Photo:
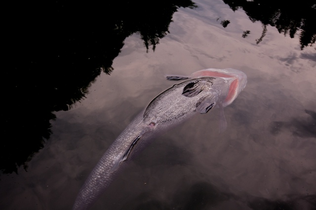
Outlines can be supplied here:
M246 74L235 69L205 69L198 70L191 74L192 78L205 76L221 77L228 82L228 91L224 91L226 96L224 96L224 100L222 102L224 107L232 104L247 84Z

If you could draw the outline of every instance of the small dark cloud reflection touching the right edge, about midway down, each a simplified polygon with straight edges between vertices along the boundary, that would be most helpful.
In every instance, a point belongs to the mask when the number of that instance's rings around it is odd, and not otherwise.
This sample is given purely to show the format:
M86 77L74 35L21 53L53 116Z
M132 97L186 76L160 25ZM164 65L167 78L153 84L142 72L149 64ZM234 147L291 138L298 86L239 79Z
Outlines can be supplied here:
M289 122L274 121L270 132L277 135L282 128L289 129L294 136L301 138L316 137L316 112L305 109L311 117L307 119L292 118Z

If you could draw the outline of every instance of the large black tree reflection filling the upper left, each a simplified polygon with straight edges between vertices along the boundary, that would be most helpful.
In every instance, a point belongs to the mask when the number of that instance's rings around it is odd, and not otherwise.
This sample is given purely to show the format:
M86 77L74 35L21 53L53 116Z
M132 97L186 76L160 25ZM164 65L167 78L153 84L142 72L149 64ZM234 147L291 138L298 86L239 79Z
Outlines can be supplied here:
M195 7L191 0L8 6L14 19L3 30L8 58L1 71L0 170L26 168L50 136L52 111L68 110L102 70L110 74L127 36L140 33L147 49L155 49L180 6Z

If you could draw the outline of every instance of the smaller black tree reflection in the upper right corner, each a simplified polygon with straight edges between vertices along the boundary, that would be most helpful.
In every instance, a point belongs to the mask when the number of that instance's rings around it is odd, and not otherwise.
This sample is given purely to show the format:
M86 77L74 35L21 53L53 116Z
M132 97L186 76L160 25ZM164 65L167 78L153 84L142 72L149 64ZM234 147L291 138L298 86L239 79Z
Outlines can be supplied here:
M279 33L289 34L291 38L300 33L301 49L309 44L312 46L316 41L315 0L300 0L295 3L284 3L282 0L223 1L234 11L242 8L251 21L260 21L264 26L274 26Z

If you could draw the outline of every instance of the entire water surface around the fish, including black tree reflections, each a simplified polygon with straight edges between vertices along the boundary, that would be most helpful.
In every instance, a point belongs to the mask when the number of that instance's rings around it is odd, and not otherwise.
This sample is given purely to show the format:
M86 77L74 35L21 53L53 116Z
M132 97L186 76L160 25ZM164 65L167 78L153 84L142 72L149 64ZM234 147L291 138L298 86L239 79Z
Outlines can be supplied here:
M4 74L0 209L71 209L119 133L177 83L164 75L206 68L248 76L225 108L226 132L216 109L194 116L153 141L92 209L316 208L316 5L225 2L110 3L91 7L96 19L85 5L57 3L54 27L26 25ZM47 33L56 38L31 47Z

